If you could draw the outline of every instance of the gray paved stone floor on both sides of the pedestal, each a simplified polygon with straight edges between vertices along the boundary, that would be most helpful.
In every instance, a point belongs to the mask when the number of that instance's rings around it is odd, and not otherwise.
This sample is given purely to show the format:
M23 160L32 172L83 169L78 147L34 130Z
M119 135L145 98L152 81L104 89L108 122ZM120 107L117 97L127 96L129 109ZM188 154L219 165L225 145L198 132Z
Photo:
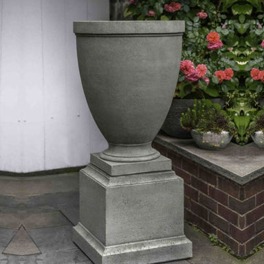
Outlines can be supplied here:
M0 177L0 194L0 264L92 264L72 243L78 173ZM192 259L170 264L264 263L264 250L239 261L188 225L186 236Z

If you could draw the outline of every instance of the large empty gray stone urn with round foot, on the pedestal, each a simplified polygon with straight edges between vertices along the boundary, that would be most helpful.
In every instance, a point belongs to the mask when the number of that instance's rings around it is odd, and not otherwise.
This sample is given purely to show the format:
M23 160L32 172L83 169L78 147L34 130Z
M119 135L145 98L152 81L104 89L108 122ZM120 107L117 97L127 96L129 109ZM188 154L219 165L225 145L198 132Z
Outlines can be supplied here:
M159 157L151 142L173 100L184 21L74 22L80 76L114 162Z

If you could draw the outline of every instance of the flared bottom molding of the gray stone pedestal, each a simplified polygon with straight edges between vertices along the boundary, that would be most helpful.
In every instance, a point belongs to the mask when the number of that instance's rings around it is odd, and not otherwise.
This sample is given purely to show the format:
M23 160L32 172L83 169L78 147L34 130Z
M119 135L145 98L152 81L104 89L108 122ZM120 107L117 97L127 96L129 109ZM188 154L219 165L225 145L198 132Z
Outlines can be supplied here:
M186 236L155 239L105 247L81 223L74 227L74 242L94 263L150 264L192 256L192 243Z

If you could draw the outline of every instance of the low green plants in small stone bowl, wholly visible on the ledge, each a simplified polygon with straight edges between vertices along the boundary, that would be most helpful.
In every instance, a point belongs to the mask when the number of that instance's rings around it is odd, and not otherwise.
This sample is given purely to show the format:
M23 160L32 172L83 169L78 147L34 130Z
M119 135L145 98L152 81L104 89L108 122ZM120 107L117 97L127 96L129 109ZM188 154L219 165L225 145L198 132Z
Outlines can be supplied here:
M210 100L203 103L195 100L192 109L182 113L180 122L183 129L190 131L196 144L207 150L225 148L236 134L235 125L225 111Z

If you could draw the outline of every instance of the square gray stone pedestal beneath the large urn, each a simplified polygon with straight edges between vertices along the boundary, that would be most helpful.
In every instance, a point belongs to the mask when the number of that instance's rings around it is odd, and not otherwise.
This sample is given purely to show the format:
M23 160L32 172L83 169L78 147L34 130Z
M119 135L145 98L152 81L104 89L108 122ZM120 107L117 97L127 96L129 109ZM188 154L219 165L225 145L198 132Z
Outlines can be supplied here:
M184 182L170 168L163 156L118 163L91 155L80 170L80 222L73 233L91 261L150 264L192 256L184 235Z

